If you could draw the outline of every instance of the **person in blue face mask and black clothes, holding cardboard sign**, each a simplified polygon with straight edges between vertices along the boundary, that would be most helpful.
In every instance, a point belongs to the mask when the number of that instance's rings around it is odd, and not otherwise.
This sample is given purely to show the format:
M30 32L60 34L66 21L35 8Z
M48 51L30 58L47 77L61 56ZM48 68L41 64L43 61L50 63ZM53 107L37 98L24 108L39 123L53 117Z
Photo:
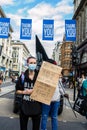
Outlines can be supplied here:
M36 58L29 57L27 59L28 69L22 73L16 83L16 93L22 94L22 102L20 106L20 130L27 130L28 119L32 119L32 130L39 130L41 118L41 104L30 98L33 92L34 83L37 78Z

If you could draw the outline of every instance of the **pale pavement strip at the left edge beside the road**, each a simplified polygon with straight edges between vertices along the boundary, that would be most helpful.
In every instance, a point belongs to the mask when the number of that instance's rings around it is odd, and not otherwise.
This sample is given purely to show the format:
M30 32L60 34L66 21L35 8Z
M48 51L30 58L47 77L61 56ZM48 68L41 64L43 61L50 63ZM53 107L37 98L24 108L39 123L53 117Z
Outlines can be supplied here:
M11 79L7 79L0 86L0 97L15 90L15 83L11 82Z

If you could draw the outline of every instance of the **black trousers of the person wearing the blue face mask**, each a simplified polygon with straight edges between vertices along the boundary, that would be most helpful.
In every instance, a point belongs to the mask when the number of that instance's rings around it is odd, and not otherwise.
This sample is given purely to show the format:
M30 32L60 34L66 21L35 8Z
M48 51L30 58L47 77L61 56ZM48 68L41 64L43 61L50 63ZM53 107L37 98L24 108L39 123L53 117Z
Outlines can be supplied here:
M41 115L31 116L32 130L39 130L40 118L41 118ZM29 116L26 116L22 111L20 111L20 130L28 130L27 129L28 119L29 119Z

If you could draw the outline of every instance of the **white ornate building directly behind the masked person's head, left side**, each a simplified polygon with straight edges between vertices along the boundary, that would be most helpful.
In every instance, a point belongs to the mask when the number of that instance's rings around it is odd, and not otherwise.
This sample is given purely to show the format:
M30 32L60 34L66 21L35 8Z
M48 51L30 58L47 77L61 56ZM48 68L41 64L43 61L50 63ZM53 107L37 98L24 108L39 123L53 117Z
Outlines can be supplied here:
M20 75L21 72L24 72L27 69L26 60L30 56L30 52L26 45L20 41L11 41L12 47L12 60L13 70L11 71L12 75Z

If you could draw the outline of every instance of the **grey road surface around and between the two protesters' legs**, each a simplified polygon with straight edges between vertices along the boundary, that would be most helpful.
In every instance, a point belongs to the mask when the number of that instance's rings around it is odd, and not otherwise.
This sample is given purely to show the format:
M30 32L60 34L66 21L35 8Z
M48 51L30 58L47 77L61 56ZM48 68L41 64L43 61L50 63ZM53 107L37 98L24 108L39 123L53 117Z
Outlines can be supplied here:
M67 90L70 93L72 89ZM70 94L71 95L71 94ZM72 96L72 95L71 95ZM8 94L4 94L0 97L0 130L19 130L19 118L18 114L13 113L13 99L14 92L11 91ZM73 101L71 101L72 103ZM63 113L58 116L59 130L86 130L87 120L85 117L76 113L77 118L74 116L67 99L64 99ZM28 130L31 130L31 119L29 119ZM48 119L47 129L51 130L51 120Z

